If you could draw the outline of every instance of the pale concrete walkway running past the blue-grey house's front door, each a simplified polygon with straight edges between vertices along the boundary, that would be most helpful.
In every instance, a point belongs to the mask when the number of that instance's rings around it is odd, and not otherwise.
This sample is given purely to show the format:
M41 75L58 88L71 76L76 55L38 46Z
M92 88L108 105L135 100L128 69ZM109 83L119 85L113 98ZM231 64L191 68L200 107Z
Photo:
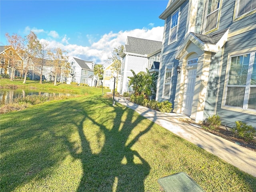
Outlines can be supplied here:
M163 128L170 130L174 134L256 177L256 152L179 121L179 118L186 118L186 116L182 114L161 113L129 102L123 97L115 97L115 100Z

